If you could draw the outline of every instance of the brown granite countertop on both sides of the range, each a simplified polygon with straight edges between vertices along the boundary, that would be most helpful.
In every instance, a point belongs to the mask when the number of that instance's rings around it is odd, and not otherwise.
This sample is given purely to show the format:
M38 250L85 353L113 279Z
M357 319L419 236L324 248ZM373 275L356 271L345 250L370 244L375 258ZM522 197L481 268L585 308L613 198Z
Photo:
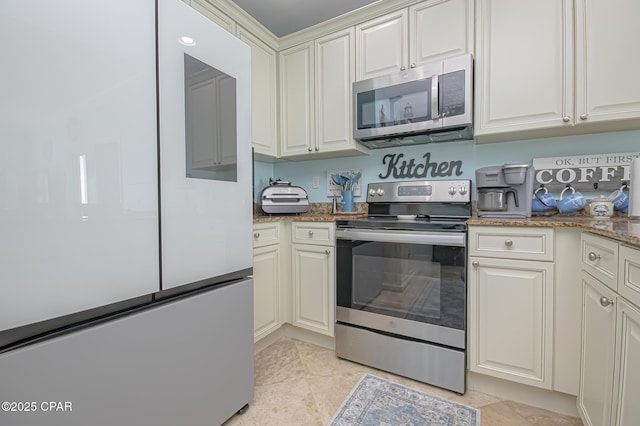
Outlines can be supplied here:
M253 223L264 222L335 222L350 217L366 217L367 203L355 203L355 212L331 214L331 203L311 203L309 211L298 215L265 215L260 206L255 205ZM625 215L617 214L611 218L598 219L584 214L575 215L540 215L528 219L484 218L473 216L469 225L484 226L540 226L550 228L579 228L583 231L640 247L640 220L631 220Z

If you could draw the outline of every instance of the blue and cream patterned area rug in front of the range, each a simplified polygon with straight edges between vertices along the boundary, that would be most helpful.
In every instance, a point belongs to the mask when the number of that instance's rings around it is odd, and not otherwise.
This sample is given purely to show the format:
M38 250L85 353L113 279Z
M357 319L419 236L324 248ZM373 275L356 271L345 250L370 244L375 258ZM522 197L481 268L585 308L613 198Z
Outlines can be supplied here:
M480 411L389 382L362 376L330 426L446 425L478 426Z

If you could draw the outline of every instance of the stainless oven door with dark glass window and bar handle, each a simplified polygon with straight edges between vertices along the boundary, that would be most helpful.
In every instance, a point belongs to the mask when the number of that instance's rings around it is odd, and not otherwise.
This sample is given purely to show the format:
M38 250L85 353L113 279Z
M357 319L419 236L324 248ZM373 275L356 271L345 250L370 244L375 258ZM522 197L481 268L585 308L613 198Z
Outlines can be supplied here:
M336 230L336 320L465 347L466 233Z

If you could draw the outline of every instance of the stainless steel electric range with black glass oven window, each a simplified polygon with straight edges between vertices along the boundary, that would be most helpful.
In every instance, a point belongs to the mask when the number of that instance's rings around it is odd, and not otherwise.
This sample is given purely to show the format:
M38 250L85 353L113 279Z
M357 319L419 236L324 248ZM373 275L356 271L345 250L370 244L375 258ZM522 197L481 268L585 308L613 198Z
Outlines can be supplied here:
M470 180L369 184L336 222L336 355L465 392Z

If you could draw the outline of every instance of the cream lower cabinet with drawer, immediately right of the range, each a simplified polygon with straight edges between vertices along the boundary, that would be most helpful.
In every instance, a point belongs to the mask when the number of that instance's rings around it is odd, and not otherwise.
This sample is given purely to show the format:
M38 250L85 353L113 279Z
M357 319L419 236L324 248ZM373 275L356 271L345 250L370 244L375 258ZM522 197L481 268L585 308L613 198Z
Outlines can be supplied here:
M469 227L469 254L469 369L552 389L553 230Z

